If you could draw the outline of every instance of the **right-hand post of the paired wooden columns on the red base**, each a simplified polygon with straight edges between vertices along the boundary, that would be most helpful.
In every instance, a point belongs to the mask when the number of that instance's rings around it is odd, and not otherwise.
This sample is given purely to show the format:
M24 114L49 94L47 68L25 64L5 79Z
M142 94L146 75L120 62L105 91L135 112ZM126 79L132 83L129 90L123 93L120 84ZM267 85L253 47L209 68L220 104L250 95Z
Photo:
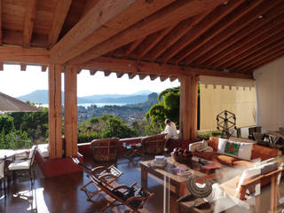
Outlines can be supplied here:
M77 67L65 69L64 133L66 156L77 155Z

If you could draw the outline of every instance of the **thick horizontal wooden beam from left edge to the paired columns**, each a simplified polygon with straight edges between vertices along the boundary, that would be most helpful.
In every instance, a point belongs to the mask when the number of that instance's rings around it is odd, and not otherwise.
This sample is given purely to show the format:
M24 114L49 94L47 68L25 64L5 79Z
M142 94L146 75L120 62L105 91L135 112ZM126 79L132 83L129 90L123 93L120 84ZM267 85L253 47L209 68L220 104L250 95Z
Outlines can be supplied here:
M22 62L26 64L48 64L49 51L41 48L22 48L20 46L0 46L0 61Z

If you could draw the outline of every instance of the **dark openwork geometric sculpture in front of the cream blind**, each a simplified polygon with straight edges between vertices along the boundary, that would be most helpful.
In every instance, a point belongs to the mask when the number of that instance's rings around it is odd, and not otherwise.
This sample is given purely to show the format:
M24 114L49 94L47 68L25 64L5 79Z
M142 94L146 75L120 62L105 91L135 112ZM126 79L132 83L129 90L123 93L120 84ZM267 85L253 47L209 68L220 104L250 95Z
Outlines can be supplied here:
M225 110L220 114L217 114L217 130L222 130L223 134L229 138L233 132L230 133L230 130L237 130L236 127L236 115Z

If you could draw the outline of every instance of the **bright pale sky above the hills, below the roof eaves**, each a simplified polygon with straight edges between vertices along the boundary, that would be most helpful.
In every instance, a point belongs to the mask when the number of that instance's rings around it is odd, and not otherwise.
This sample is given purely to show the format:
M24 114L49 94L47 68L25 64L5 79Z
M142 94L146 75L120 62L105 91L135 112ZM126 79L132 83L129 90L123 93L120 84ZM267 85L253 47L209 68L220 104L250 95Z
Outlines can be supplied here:
M63 75L62 75L63 79ZM179 82L170 79L161 82L160 78L151 81L149 77L139 80L138 76L129 79L128 75L117 78L113 73L107 77L103 72L90 75L83 70L77 75L77 95L79 97L93 94L131 94L137 91L160 92L170 87L176 87ZM62 80L62 91L64 88ZM48 90L48 73L42 72L41 67L28 66L25 72L20 71L20 65L5 65L0 72L0 91L12 97L26 95L36 90Z

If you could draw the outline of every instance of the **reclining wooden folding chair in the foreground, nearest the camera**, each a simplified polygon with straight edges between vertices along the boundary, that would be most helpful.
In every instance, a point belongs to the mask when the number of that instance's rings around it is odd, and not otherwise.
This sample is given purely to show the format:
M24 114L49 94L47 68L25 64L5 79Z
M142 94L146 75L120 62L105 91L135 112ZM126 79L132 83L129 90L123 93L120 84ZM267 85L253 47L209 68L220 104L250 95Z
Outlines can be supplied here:
M91 201L91 197L99 192L105 192L113 199L113 201L107 201L106 207L101 209L100 212L104 212L109 207L120 205L128 207L131 212L140 212L138 209L142 209L146 202L154 196L154 193L149 193L148 191L143 190L137 183L130 186L118 185L115 187L113 185L106 184L106 182L102 181L101 178L93 175L91 170L83 165L83 163L79 162L75 158L73 158L73 161L87 173L87 177L90 178L91 183L98 188L98 191L94 193L87 193L86 186L90 185L90 182L81 188L81 190L87 194L89 201Z

